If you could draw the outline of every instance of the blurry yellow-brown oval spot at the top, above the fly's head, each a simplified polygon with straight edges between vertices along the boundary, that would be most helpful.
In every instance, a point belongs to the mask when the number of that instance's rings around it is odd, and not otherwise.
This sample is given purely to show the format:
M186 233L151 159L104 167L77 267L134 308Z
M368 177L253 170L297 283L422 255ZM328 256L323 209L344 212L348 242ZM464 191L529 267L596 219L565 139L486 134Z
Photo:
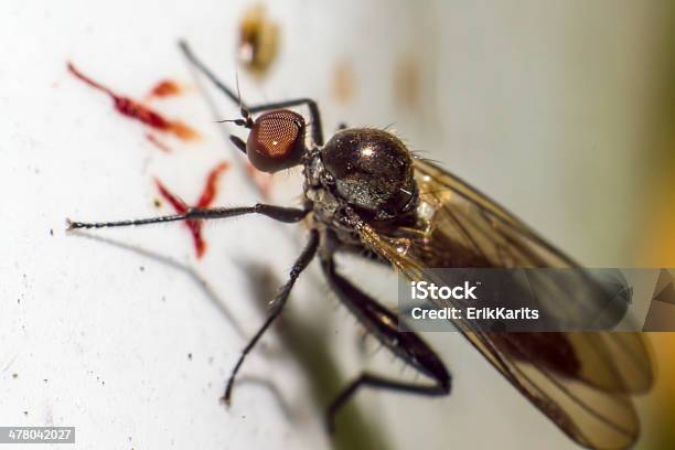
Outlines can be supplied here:
M279 46L279 26L269 20L262 4L249 7L239 24L237 56L244 67L264 75L275 61Z

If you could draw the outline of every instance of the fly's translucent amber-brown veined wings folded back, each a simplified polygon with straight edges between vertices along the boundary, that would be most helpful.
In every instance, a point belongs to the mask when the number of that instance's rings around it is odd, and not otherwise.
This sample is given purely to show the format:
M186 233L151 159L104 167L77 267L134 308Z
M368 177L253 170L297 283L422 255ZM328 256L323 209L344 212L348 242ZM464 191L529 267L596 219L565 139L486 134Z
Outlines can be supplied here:
M355 219L364 245L413 280L424 268L577 267L561 251L465 182L416 160L418 224L376 228ZM579 281L580 292L590 280ZM546 285L547 287L549 285ZM549 286L545 308L585 307ZM564 298L564 296L567 297ZM589 302L590 300L586 300ZM652 384L646 345L636 333L490 333L456 323L467 339L571 439L588 448L623 449L639 436L631 394Z

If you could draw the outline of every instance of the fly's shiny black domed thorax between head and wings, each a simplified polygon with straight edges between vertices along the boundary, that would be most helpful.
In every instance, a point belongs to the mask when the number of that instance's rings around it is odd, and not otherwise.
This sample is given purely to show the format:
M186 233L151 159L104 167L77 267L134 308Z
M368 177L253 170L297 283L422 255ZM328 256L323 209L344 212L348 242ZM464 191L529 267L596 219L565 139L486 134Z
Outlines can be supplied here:
M419 195L413 156L400 139L373 128L339 131L304 161L304 193L314 217L343 228L346 207L376 227L415 218Z

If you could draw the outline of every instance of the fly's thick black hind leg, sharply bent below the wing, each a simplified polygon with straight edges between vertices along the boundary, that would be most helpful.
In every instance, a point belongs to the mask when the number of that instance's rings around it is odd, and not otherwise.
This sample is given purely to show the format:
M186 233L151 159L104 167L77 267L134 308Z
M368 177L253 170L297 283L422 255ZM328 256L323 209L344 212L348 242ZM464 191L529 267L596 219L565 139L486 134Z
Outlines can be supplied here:
M356 315L368 332L394 354L435 382L433 384L407 383L364 372L331 403L326 413L329 430L333 429L335 415L340 408L356 394L360 387L368 386L429 396L450 394L450 374L436 353L417 334L400 332L397 315L339 275L332 257L322 259L321 267L340 301Z

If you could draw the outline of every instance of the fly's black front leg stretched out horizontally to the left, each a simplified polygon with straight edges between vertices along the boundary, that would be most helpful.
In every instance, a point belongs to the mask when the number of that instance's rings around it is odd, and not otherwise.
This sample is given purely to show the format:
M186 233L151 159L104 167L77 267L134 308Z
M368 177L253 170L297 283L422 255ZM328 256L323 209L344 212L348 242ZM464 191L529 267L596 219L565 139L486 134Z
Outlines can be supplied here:
M300 222L309 213L309 210L301 210L297 207L283 207L267 205L264 203L257 203L254 206L240 206L240 207L214 207L214 208L199 208L192 207L184 214L173 214L159 217L150 218L137 218L130 221L119 222L72 222L67 219L67 229L78 228L110 228L115 226L132 226L132 225L149 225L149 224L161 224L165 222L176 221L190 221L190 219L212 219L212 218L227 218L236 217L245 214L261 214L267 217L274 218L275 221L293 223Z

